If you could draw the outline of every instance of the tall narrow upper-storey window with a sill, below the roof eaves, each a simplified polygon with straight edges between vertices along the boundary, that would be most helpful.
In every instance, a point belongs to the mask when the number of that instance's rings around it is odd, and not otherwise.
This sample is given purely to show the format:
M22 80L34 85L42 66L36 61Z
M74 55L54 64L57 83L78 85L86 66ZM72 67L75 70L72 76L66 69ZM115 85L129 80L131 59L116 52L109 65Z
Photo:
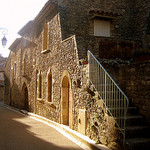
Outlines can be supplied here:
M48 24L47 21L45 20L43 31L43 50L47 49L47 44L48 44Z

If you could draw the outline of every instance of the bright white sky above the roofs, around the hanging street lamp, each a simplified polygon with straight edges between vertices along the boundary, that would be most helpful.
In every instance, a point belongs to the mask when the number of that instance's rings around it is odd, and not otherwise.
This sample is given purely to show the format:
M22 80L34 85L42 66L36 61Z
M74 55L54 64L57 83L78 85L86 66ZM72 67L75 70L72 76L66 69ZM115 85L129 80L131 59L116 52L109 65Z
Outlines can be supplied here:
M0 30L0 54L8 57L10 45L19 37L18 31L30 20L33 20L48 0L0 0L0 28L8 30L7 45L3 48Z

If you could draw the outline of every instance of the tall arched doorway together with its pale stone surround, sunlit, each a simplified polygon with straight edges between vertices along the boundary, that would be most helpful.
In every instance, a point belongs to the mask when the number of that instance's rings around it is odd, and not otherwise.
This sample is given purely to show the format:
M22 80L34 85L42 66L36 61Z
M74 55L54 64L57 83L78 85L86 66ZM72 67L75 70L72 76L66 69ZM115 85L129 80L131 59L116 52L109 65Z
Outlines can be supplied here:
M64 71L61 80L61 123L72 128L72 89L67 71Z

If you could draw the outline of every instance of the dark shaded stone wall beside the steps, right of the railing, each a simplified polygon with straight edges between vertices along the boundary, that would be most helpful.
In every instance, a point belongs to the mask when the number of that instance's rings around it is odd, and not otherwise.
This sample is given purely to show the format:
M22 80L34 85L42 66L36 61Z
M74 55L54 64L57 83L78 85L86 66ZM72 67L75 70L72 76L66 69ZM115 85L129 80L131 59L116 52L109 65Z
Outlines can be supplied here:
M150 62L139 62L124 68L126 93L131 103L150 123ZM123 71L122 71L123 72Z

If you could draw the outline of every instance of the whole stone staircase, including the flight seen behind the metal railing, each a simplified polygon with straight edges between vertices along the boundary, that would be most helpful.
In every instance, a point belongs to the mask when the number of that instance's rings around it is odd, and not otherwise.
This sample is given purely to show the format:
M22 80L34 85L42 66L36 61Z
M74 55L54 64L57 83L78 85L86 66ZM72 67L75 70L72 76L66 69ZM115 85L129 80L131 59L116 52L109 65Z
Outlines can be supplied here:
M115 96L112 96L112 97L110 96L110 95L113 95L112 93L116 92L116 89L112 90L112 88L109 87L110 82L107 81L108 79L105 80L105 82L100 82L101 78L104 78L104 79L106 78L106 74L103 72L98 73L97 75L95 74L101 70L104 70L104 72L106 71L90 51L88 52L88 56L89 56L89 59L88 59L89 66L91 65L91 67L89 67L90 68L89 72L91 73L91 74L89 73L91 75L90 80L93 80L91 83L94 85L96 91L99 93L99 95L102 97L103 100L105 99L103 95L106 95L106 97L108 95L109 103L105 103L106 107L111 112L112 116L115 118L115 121L117 123L119 122L118 120L123 120L125 119L125 116L126 116L126 122L125 122L126 128L125 128L125 134L124 134L125 135L125 146L124 146L125 150L150 150L150 125L148 124L146 119L139 114L138 109L134 107L130 102L129 102L129 106L127 109L127 114L125 111L125 113L121 113L120 115L120 112L123 112L125 110L126 105L125 106L118 105L118 104L122 104L121 102L122 99L116 97L116 94ZM97 66L99 65L102 67L95 67L95 65ZM98 71L95 71L95 70L98 70ZM97 77L97 79L95 77ZM105 86L103 86L102 83L105 84ZM99 89L102 89L102 92L100 92ZM107 92L107 93L103 94L104 92ZM120 126L120 129L124 130L124 128L121 126ZM120 150L123 150L124 148Z

